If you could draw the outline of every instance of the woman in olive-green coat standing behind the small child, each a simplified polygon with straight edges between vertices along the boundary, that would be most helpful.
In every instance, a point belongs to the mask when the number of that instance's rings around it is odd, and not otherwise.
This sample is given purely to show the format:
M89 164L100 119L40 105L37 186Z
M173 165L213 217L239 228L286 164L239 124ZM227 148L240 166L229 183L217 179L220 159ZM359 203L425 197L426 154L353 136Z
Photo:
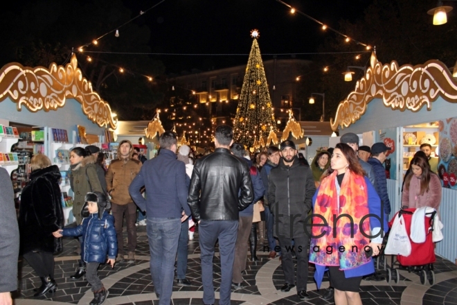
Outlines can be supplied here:
M84 206L84 198L89 192L102 193L102 186L98 180L96 171L96 157L91 155L87 150L81 147L75 147L70 151L70 186L73 191L73 216L76 218L76 224L82 222L81 209ZM81 240L80 240L81 242ZM78 280L86 273L86 264L80 261L80 268L70 279Z

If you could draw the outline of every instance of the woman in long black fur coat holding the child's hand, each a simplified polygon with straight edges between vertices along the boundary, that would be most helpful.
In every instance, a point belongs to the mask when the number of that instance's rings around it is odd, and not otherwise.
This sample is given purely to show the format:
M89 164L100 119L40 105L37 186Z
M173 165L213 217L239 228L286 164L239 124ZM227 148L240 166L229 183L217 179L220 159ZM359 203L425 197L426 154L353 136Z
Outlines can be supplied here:
M45 155L30 160L30 182L24 187L19 207L21 254L42 279L35 297L55 292L53 253L62 250L62 239L53 232L64 227L59 168Z

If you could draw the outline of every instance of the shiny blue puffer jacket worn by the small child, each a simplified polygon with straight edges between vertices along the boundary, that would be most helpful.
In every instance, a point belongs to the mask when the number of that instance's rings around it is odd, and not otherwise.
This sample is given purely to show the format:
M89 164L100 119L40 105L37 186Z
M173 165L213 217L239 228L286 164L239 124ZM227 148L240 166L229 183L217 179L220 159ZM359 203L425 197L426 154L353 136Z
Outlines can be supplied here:
M81 259L86 263L106 263L109 259L116 259L118 241L114 229L114 217L106 211L102 219L98 213L82 219L81 225L71 229L64 229L63 236L82 236Z

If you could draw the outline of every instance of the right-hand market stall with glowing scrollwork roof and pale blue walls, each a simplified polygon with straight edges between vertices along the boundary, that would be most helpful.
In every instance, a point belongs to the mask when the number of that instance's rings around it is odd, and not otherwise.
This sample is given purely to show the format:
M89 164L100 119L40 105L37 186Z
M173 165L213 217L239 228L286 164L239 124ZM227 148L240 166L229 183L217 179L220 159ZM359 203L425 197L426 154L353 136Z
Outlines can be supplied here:
M442 180L440 215L445 239L436 253L457 258L457 82L446 65L438 60L399 67L382 64L373 52L364 78L339 103L333 130L363 134L364 140L384 141L391 150L388 192L392 211L400 209L404 171L421 143L429 143L439 157ZM370 143L364 143L364 145Z

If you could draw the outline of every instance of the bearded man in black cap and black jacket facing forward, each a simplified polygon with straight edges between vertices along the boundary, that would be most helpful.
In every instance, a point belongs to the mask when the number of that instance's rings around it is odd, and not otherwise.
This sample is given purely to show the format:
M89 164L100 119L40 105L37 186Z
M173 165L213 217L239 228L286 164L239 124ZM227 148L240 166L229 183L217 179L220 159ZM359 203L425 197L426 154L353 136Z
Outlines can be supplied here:
M305 232L307 214L312 207L312 196L316 192L310 166L301 164L293 141L280 144L281 159L271 169L268 182L268 202L274 214L274 233L281 248L285 285L281 291L288 292L295 287L294 263L292 261L292 238L297 258L297 295L308 299L307 248L309 236Z

